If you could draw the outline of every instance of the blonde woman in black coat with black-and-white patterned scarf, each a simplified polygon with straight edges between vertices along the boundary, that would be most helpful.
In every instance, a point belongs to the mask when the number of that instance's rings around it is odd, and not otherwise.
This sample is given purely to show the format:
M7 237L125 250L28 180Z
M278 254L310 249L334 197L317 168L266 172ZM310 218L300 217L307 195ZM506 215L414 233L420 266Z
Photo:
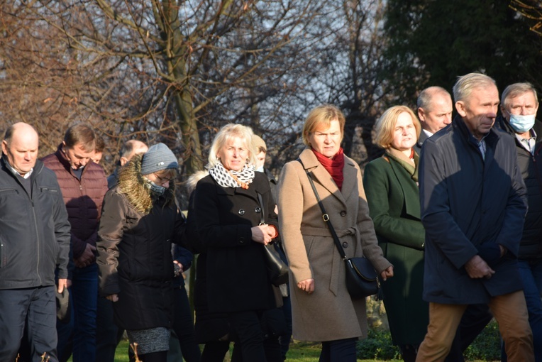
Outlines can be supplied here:
M277 302L264 246L278 236L278 225L267 177L255 172L252 136L245 126L221 128L209 153L209 175L194 191L193 212L206 249L209 311L227 315L243 361L266 361L262 314Z

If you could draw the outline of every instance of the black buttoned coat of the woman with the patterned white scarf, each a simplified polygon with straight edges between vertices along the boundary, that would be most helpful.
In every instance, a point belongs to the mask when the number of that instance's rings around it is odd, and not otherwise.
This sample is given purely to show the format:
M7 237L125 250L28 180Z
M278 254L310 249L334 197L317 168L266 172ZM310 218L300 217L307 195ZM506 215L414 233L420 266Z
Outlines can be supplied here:
M195 226L206 250L206 293L210 312L241 312L277 307L267 269L264 246L252 240L252 227L265 222L278 226L267 177L255 172L247 190L221 187L211 175L194 191ZM258 202L262 195L263 205Z

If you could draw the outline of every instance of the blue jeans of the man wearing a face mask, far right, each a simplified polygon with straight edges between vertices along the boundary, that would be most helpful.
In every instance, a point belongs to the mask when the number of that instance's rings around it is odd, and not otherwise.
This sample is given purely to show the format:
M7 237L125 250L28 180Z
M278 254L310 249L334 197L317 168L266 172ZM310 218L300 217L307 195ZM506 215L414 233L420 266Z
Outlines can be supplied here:
M536 362L542 362L542 260L518 260L518 269L524 283L529 325L533 331L534 358ZM502 361L507 361L504 344Z

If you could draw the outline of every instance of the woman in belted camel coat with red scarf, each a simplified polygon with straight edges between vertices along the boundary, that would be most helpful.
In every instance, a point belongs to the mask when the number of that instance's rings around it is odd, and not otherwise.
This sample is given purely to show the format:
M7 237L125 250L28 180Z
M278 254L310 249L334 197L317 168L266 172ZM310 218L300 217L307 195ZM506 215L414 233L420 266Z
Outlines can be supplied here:
M353 300L345 263L305 173L337 231L347 258L365 255L382 279L393 267L382 256L369 217L360 168L343 155L344 116L335 106L307 117L299 159L284 165L279 181L280 231L289 261L294 339L322 341L320 361L355 361L355 341L367 336L365 298Z

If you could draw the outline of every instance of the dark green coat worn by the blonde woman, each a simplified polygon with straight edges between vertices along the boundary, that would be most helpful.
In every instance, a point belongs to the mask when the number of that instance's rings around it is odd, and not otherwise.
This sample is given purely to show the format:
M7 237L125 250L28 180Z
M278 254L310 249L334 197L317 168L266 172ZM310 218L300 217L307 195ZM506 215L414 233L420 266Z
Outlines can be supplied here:
M388 155L365 166L363 186L378 243L394 265L394 277L382 282L384 305L394 344L421 344L429 322L424 287L425 231L420 220L419 189Z

